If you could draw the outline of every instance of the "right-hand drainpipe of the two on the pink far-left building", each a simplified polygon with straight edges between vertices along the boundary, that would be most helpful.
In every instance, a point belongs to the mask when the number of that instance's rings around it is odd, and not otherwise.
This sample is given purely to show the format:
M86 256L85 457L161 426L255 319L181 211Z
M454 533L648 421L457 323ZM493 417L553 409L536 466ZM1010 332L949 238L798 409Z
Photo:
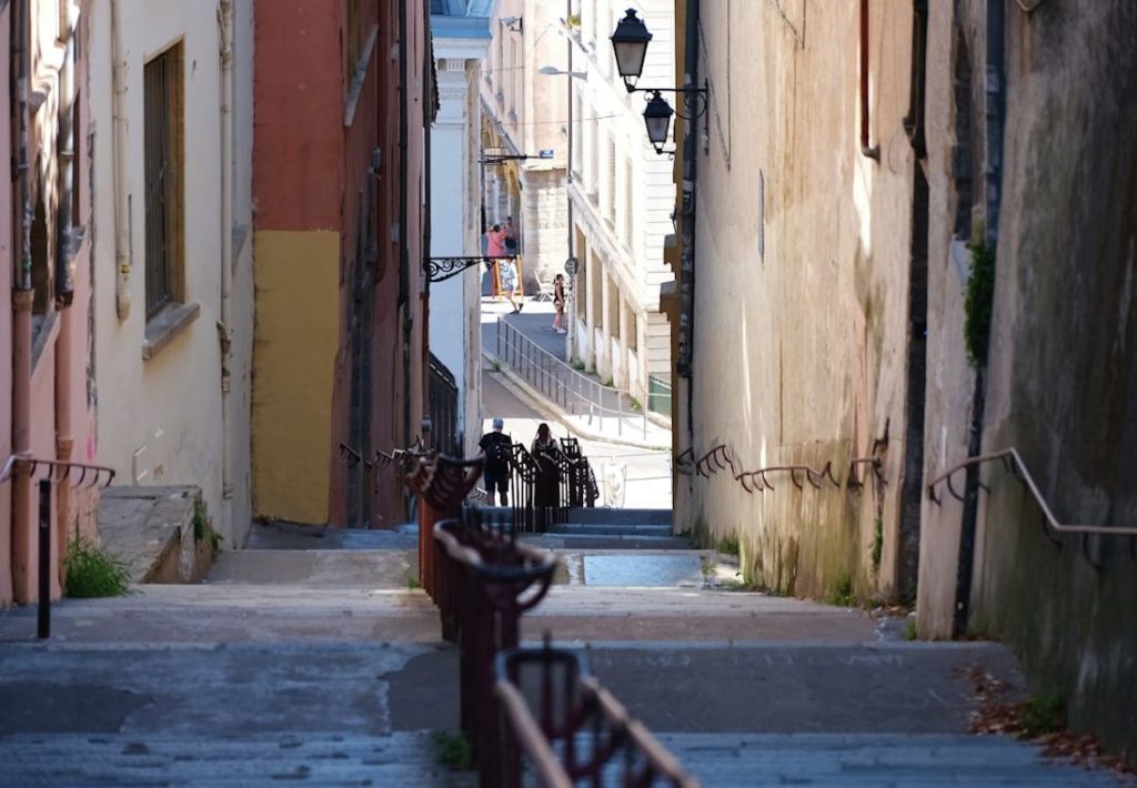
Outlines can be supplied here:
M59 199L56 208L56 307L59 309L59 335L56 339L56 459L70 462L75 443L72 420L72 354L75 338L74 313L69 308L75 296L75 275L72 250L72 173L75 166L75 30L78 8L67 2L67 25L63 31L67 51L59 70L59 135L56 150L59 160ZM70 486L56 486L56 545L63 550L67 544L70 522ZM63 572L63 562L58 564ZM60 577L60 580L63 578Z

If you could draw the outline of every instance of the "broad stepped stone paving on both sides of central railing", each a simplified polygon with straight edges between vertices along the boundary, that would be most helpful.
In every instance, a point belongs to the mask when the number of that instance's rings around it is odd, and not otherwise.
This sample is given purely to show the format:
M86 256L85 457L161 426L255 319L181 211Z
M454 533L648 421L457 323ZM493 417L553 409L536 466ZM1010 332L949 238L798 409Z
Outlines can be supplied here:
M55 605L49 642L33 609L0 614L6 782L473 785L438 763L456 652L400 538L258 525L259 549L222 555L206 583ZM523 622L529 640L547 630L587 644L708 787L1109 783L965 736L965 671L1023 691L997 645L889 640L860 611L690 586L557 586Z

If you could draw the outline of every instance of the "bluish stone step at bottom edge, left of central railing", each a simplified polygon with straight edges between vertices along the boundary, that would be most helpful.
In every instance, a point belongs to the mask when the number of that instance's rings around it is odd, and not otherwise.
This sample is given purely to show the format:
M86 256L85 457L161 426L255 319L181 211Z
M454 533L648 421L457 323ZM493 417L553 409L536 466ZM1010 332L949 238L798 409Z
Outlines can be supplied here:
M5 781L18 786L475 786L438 763L433 735L329 732L194 736L16 735L0 739Z

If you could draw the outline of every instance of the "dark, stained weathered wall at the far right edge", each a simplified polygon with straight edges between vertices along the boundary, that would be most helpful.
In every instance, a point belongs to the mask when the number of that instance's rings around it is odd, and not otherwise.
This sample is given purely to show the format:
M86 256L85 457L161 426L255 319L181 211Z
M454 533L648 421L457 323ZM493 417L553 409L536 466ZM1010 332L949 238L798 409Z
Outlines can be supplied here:
M1018 447L1060 521L1134 525L1137 5L1007 9L984 450ZM1048 539L1021 484L985 479L973 625L1070 699L1073 728L1137 754L1135 539Z

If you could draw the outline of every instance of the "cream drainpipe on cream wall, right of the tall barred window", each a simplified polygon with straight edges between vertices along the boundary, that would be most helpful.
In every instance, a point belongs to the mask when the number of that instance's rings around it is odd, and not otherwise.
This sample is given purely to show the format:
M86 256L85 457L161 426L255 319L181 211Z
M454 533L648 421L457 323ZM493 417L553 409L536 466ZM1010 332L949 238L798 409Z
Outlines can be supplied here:
M217 8L221 33L221 495L233 497L233 457L230 440L232 408L232 322L233 292L233 0L221 0Z

